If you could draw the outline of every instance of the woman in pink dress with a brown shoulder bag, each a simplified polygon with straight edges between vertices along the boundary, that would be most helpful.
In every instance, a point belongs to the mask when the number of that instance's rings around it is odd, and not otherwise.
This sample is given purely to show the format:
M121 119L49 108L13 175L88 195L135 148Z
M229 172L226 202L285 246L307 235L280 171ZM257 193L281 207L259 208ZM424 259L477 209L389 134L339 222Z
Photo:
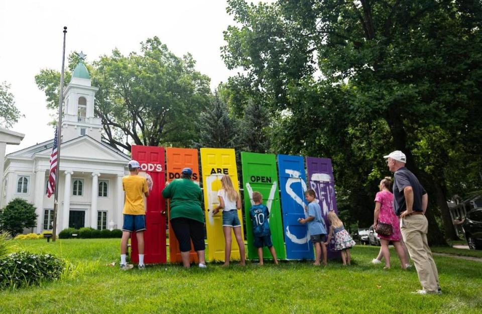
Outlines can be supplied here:
M408 264L408 258L405 254L402 240L402 233L400 232L400 222L393 210L393 194L390 192L392 188L392 179L385 177L380 182L380 192L375 196L375 214L373 219L373 227L377 228L378 223L386 223L392 225L392 234L389 236L378 235L382 248L380 252L385 259L385 269L390 268L390 250L388 249L388 243L392 241L395 250L397 251L402 268L406 269Z

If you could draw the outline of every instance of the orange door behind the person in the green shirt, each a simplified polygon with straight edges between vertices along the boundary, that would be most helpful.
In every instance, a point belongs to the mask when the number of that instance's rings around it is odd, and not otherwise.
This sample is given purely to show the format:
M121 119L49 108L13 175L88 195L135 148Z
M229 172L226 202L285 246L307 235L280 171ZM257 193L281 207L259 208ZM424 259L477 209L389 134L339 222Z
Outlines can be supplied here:
M167 181L171 182L174 179L181 178L181 171L183 168L189 167L192 169L192 180L199 184L199 161L197 157L197 149L194 148L172 148L166 149L167 154ZM168 201L169 208L169 201ZM170 217L170 211L168 210ZM191 253L189 254L191 262L197 263L197 253L191 243ZM176 263L182 261L181 251L179 250L179 242L177 241L174 231L171 228L169 221L169 261Z

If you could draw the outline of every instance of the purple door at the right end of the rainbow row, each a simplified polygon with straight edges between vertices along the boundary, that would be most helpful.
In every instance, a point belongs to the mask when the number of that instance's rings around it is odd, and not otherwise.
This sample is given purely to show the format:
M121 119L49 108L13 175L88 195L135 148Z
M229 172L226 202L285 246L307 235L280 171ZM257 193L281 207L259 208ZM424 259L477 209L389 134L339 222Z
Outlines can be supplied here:
M308 170L308 185L316 193L316 199L320 204L327 227L326 231L328 231L328 211L332 210L338 215L331 160L329 158L307 157L306 168ZM341 257L340 252L333 249L334 243L335 239L332 238L327 247L329 258Z

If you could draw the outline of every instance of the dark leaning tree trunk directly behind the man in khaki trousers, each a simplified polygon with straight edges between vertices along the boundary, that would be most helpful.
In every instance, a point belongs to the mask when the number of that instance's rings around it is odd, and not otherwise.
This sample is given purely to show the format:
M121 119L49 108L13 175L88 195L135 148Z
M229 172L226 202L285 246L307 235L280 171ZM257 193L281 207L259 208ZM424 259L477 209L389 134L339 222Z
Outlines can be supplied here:
M390 131L392 133L393 141L395 147L398 150L401 150L407 156L407 168L413 172L413 174L421 181L422 185L427 191L434 192L436 188L434 187L435 181L433 178L428 175L426 172L418 169L415 160L413 158L412 150L408 148L407 145L407 132L403 127L403 122L400 117L400 114L396 112L395 108L389 108L387 112L387 116L385 117ZM433 203L430 201L430 193L429 193L429 204ZM433 211L430 210L430 207L427 208L427 212L425 216L428 220L428 230L429 233L427 234L428 242L430 245L437 244L437 245L447 245L447 241L445 240L443 233L440 231L440 228L435 221L435 216Z

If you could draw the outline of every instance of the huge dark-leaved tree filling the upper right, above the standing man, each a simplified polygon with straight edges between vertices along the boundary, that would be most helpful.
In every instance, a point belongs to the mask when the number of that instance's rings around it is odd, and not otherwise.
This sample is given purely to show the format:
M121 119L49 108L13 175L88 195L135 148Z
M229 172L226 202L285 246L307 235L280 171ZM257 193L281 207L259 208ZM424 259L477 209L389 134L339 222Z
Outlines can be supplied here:
M407 167L429 191L446 235L453 237L445 174L452 158L464 156L480 165L482 156L482 124L473 118L482 114L481 4L293 0L247 5L231 0L227 10L240 26L225 32L226 65L243 67L252 92L264 94L272 110L284 110L283 125L294 128L293 121L307 121L320 112L315 125L322 125L323 132L310 134L314 142L297 129L280 135L301 143L295 145L299 149L315 147L333 156L336 169L351 169L342 176L360 167L367 176L338 189L352 195L373 184L374 175L388 174L381 150L404 151ZM434 129L445 131L436 137L443 147L461 143L461 153L430 158L437 143L427 145L426 134ZM363 146L366 139L379 137L377 132L387 138L371 143L384 146ZM346 142L354 137L361 140ZM289 148L284 142L281 138L278 145ZM353 165L353 159L363 162ZM338 164L343 160L348 163ZM341 182L346 184L343 177ZM368 204L364 208L373 206ZM433 214L428 212L430 240L444 243Z

